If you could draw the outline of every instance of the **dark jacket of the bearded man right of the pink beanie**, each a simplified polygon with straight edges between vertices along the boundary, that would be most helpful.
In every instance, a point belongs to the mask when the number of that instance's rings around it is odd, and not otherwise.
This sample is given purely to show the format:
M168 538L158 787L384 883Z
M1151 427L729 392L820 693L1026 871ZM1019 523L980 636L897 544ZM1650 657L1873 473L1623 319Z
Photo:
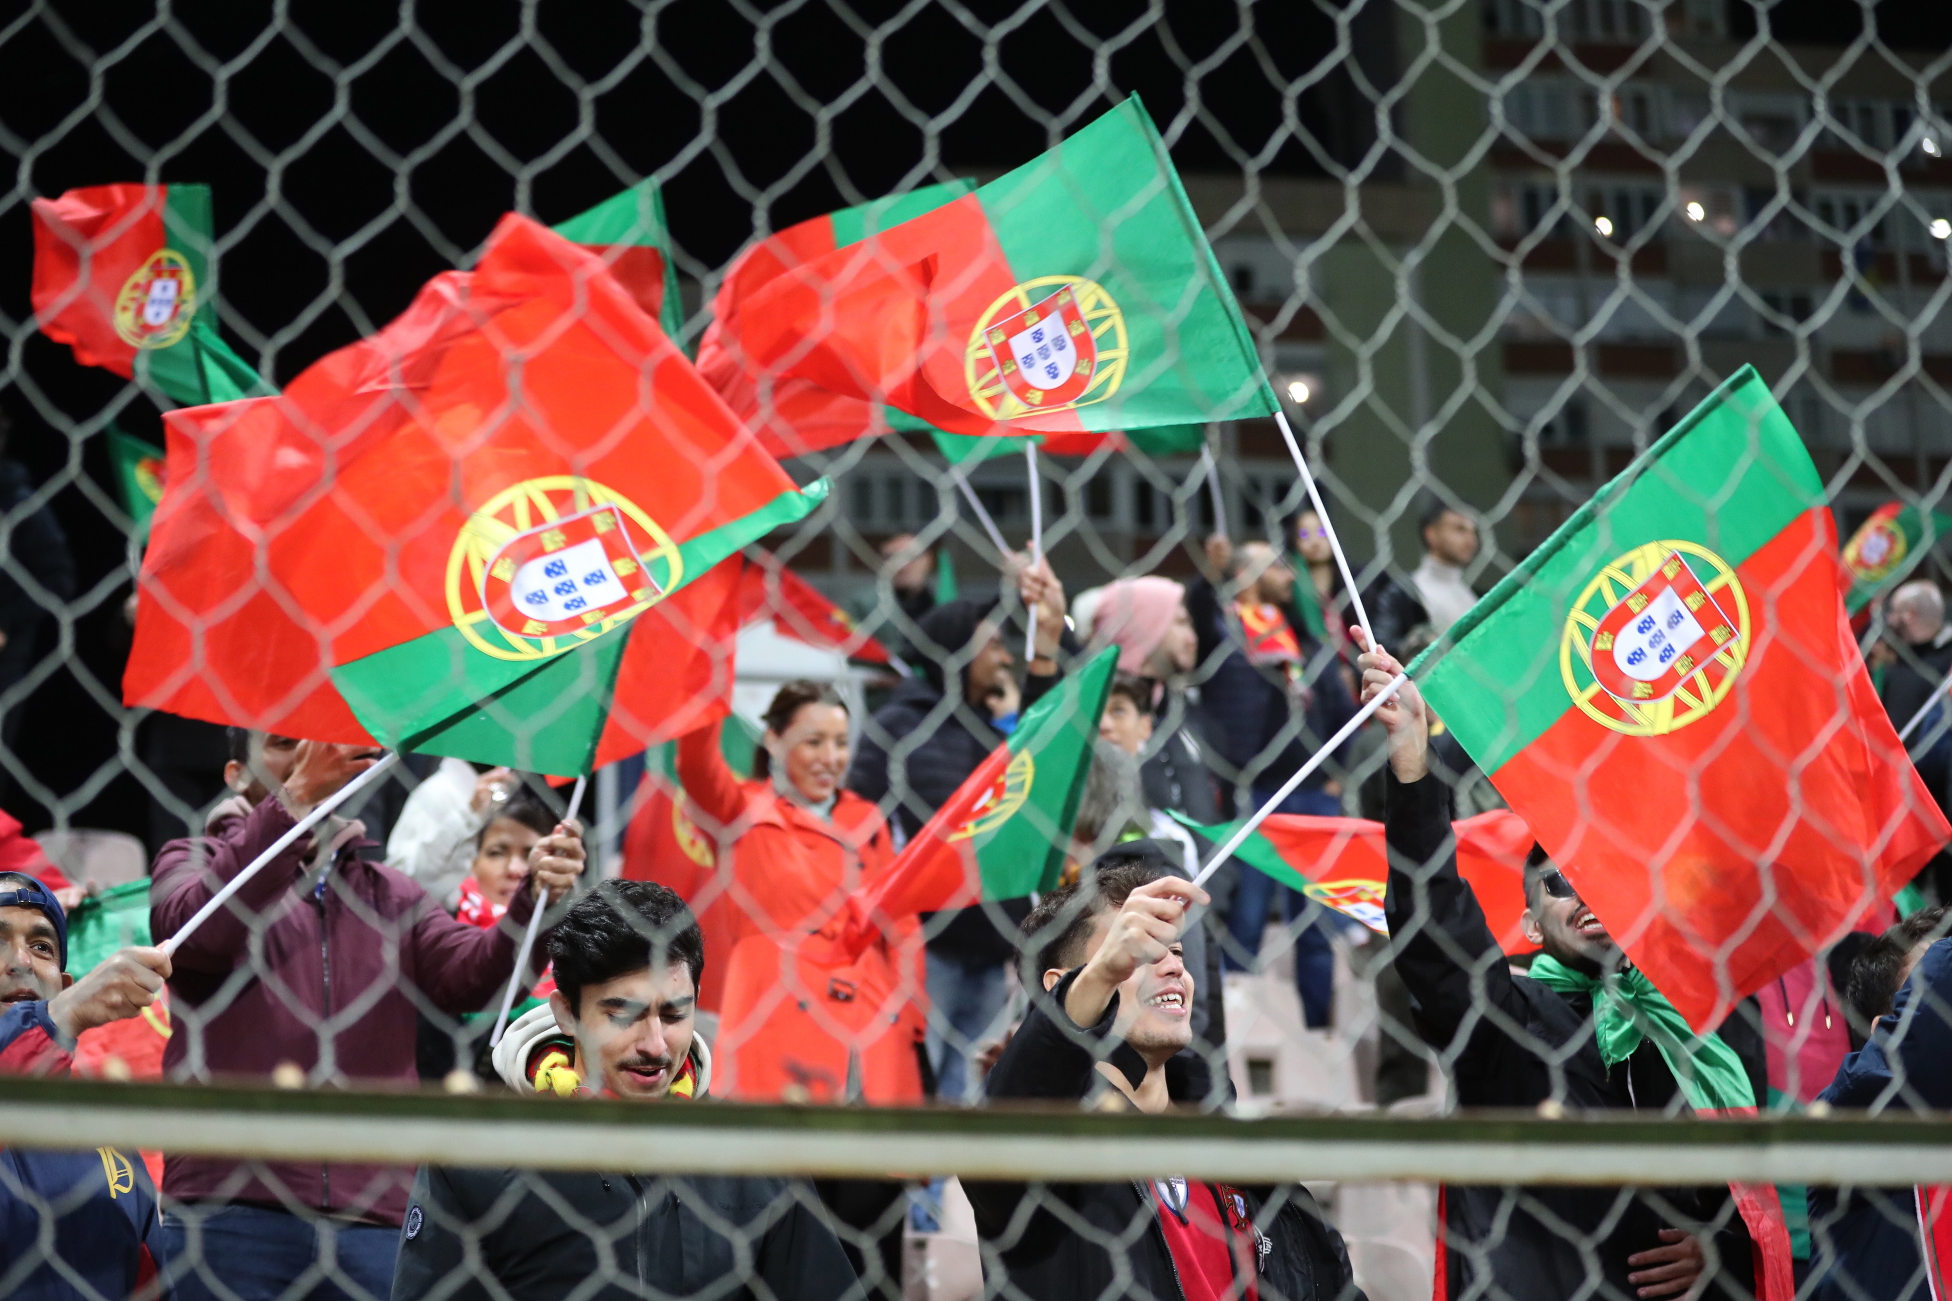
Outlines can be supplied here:
M1204 578L1187 584L1187 613L1200 643L1200 709L1206 740L1218 762L1214 776L1228 787L1275 787L1308 762L1316 748L1355 717L1349 686L1337 670L1335 654L1294 629L1302 649L1304 676L1312 690L1308 711L1288 705L1282 674L1247 660L1240 633L1220 604L1220 594ZM1322 766L1302 783L1318 791L1341 774ZM1232 805L1234 801L1222 801Z

